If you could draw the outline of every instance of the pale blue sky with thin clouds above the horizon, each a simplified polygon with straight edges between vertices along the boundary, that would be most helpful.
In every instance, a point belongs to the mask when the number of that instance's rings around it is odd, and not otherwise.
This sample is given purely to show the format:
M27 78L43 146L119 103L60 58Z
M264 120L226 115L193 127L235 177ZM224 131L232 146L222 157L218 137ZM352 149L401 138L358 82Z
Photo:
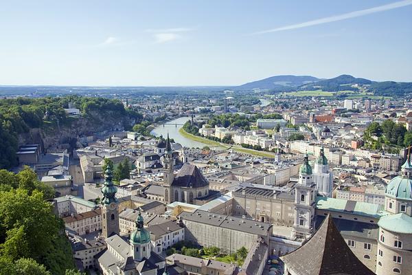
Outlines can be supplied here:
M0 0L0 85L412 81L412 0Z

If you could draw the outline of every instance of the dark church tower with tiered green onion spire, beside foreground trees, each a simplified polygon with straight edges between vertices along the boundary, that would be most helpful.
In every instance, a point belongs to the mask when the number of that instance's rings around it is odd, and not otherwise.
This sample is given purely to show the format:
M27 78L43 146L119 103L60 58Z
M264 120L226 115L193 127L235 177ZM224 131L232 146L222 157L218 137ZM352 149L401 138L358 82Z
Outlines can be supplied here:
M119 210L115 197L117 188L113 184L113 164L108 163L104 171L104 186L102 187L102 234L108 238L112 234L119 234Z

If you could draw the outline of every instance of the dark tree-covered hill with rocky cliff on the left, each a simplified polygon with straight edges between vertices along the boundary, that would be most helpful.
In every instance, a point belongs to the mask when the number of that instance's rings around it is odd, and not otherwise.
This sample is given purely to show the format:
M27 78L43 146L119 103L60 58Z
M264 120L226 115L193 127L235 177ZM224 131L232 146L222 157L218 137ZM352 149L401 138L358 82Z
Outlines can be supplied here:
M16 151L20 135L31 129L47 131L47 135L70 129L78 119L69 117L65 108L69 102L80 109L80 120L84 128L122 120L141 120L137 111L125 109L122 102L108 98L82 96L47 98L10 98L0 100L0 168L11 168L17 164ZM78 128L78 125L76 125Z

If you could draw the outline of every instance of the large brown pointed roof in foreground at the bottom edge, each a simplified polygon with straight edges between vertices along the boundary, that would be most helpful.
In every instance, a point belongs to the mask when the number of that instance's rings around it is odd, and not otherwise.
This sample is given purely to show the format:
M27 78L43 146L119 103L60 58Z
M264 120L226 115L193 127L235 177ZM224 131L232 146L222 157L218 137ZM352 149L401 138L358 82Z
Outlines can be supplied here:
M280 259L297 275L374 274L347 247L330 215L307 243Z

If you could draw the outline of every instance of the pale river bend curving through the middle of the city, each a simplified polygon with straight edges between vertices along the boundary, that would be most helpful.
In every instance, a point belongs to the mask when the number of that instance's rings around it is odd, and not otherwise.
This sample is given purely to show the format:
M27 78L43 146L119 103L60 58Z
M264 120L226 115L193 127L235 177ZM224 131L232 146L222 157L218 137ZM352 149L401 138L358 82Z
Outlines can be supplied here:
M153 129L150 133L157 137L159 137L159 135L163 135L163 137L167 137L169 133L169 137L172 138L174 142L178 142L184 147L203 148L204 146L207 146L207 144L204 144L202 142L196 142L194 140L190 140L187 137L183 137L183 135L179 133L179 129L183 127L183 124L185 124L187 120L190 120L190 118L189 117L176 118L176 120L165 122L164 125L160 124L155 129Z

